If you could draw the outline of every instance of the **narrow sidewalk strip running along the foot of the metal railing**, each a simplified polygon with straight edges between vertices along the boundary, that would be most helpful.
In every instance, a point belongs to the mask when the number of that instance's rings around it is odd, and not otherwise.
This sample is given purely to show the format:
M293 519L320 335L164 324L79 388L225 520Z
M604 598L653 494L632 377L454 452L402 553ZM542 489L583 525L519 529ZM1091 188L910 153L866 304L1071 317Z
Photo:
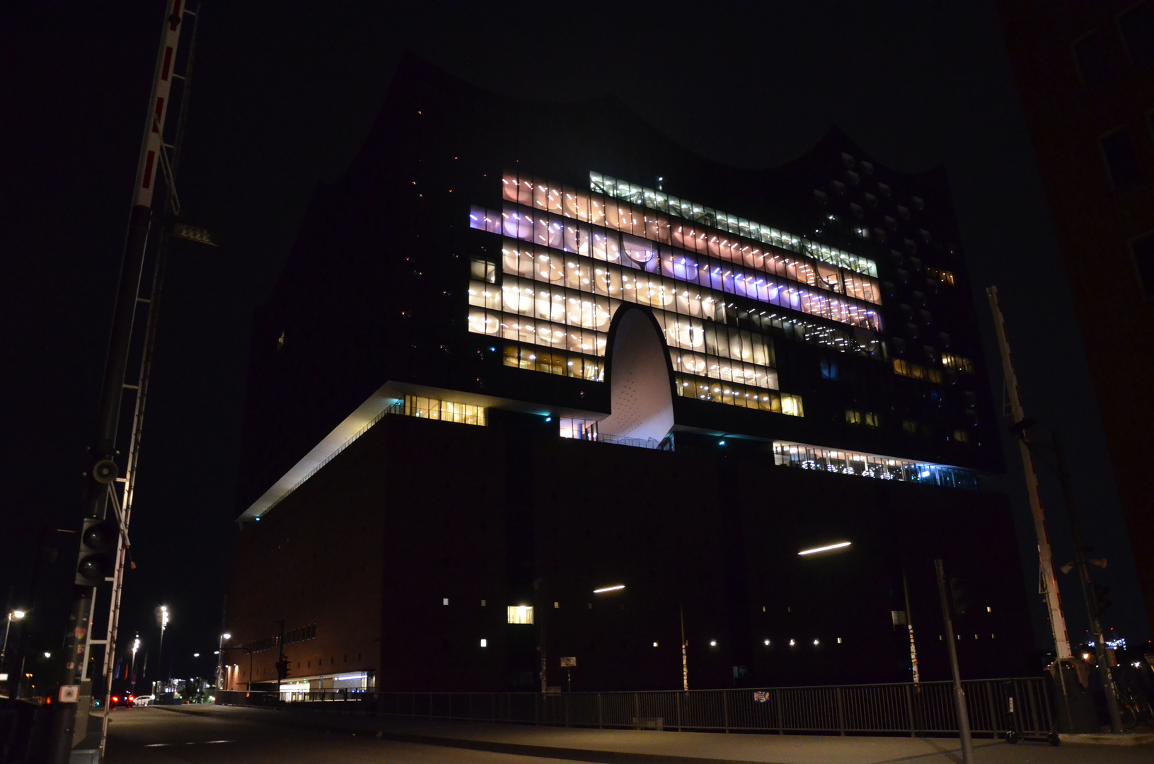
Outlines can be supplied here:
M452 722L369 717L323 711L174 706L178 713L212 714L238 721L290 725L331 732L369 733L379 737L443 748L463 748L517 756L604 762L607 764L890 764L961 761L957 739L823 735L749 735L631 729L574 729L529 725ZM1087 746L974 740L975 764L1148 764L1154 746Z

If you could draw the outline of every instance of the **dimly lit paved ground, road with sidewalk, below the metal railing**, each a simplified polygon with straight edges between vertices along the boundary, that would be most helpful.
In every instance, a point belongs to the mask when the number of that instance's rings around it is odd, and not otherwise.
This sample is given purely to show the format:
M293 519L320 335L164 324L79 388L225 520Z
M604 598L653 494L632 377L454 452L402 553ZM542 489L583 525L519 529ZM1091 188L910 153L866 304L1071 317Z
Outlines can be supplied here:
M984 739L975 740L974 747L974 764L1149 764L1154 761L1154 746L1063 744L1051 748L1037 743L1007 746ZM961 757L958 741L942 737L564 729L175 706L114 711L106 761L110 764L533 764L563 761L602 764L958 764Z

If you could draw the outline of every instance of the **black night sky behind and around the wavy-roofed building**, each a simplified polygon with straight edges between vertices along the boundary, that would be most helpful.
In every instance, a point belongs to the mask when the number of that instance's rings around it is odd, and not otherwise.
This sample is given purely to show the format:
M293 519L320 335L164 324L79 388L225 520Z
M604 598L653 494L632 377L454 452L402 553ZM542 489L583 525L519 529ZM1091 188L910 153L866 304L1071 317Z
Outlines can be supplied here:
M171 255L121 644L138 630L155 651L152 612L164 602L173 613L165 667L171 660L174 675L207 675L215 666L232 520L243 509L234 485L253 310L314 188L338 179L360 148L405 48L508 96L616 96L687 147L734 165L793 159L832 125L897 170L944 163L975 289L996 284L1002 293L1035 436L1063 434L1084 534L1093 556L1109 559L1094 572L1115 602L1103 624L1132 643L1149 637L994 3L655 7L204 2L177 187L186 218L222 246L174 246ZM0 20L0 432L12 467L0 499L0 598L10 591L10 606L29 607L42 529L78 526L163 9L162 0L7 3ZM988 365L998 369L984 293L974 302ZM1001 400L1001 375L990 384ZM1007 585L1027 587L1035 638L1052 649L1033 594L1037 560L1018 452L1006 447L1024 550L1022 578ZM1072 552L1061 495L1048 467L1040 477L1062 564ZM60 560L30 620L37 650L60 644L75 559L75 535L46 538ZM1086 626L1077 579L1062 585L1078 642Z

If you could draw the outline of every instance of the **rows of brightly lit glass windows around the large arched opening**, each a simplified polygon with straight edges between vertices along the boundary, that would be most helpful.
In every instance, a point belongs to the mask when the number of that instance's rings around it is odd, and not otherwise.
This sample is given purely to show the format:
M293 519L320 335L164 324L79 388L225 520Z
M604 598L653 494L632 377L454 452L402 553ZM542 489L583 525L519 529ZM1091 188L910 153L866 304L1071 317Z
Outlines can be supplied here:
M492 178L486 192L490 197L496 190L496 175ZM845 188L834 181L834 190L839 186ZM892 193L885 183L878 188ZM822 207L829 205L829 194L814 193ZM849 226L853 246L847 249L597 171L578 185L507 170L500 175L500 204L469 208L470 229L493 235L487 254L471 261L467 327L471 334L500 340L505 367L604 383L614 316L624 306L642 306L660 327L676 397L804 418L812 407L807 403L826 404L819 398L826 394L841 400L833 415L844 415L849 437L831 437L823 425L819 429L826 433L801 437L825 447L795 448L845 456L850 454L844 450L847 443L861 442L854 433L900 433L874 445L875 452L894 456L863 456L862 464L872 466L842 464L839 471L926 481L920 475L929 470L936 485L976 485L972 472L943 466L949 464L943 458L906 458L912 455L900 442L914 441L916 451L923 450L916 448L919 440L941 437L954 445L977 440L977 395L957 389L959 382L976 387L974 362L953 350L947 332L926 338L924 329L915 325L932 320L927 292L957 287L952 270L924 267L924 283L916 283L907 297L909 272L893 265L921 267L919 257L907 261L891 249L879 268L878 260L850 250L877 252L887 239L884 230ZM864 199L876 204L878 196ZM905 205L897 211L909 216ZM814 217L826 225L840 222L827 210ZM916 245L907 249L916 252ZM886 292L890 298L883 299ZM909 349L906 334L924 345ZM782 372L777 352L782 343L819 349L819 373L811 379L822 380L824 389L815 390L812 382L799 385L803 375ZM804 360L800 354L786 353L787 365L812 362L811 352ZM891 375L911 381L900 385L917 385L902 390L913 404L902 412L896 412L892 397L883 392L893 385L881 383ZM841 383L842 390L863 382L874 389L846 395L830 382ZM957 414L952 421L935 422L945 398L952 398ZM598 434L589 424L562 429L571 437L613 436ZM777 463L804 466L824 458ZM882 470L877 460L901 466ZM946 474L949 479L938 479Z

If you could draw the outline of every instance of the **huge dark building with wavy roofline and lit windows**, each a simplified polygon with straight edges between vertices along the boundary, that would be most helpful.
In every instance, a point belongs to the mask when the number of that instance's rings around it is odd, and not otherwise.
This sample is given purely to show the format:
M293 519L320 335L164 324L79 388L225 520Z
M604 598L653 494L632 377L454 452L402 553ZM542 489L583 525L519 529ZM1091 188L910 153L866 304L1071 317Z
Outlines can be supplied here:
M984 379L941 168L406 59L254 327L228 681L944 679L935 557L967 675L1025 671Z

